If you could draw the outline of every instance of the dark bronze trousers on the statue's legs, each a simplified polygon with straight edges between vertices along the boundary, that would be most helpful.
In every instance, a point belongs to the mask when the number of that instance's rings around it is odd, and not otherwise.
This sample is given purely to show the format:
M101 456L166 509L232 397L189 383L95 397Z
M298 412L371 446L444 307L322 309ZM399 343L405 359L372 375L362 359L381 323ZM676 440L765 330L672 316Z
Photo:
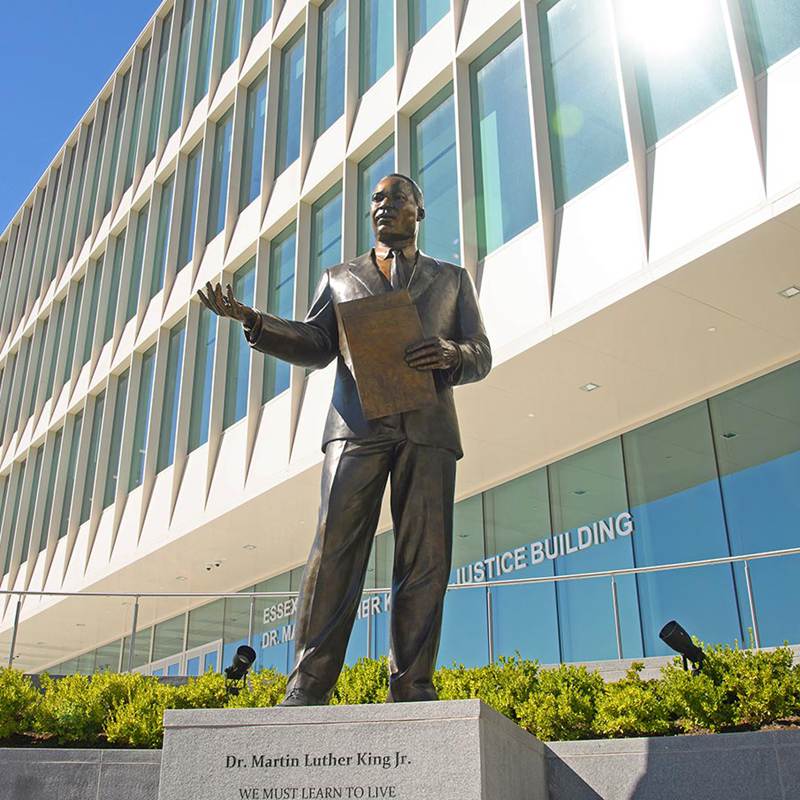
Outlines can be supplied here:
M450 575L455 472L454 453L406 439L328 445L287 691L301 688L323 699L336 683L391 479L395 550L387 700L436 699L432 676Z

